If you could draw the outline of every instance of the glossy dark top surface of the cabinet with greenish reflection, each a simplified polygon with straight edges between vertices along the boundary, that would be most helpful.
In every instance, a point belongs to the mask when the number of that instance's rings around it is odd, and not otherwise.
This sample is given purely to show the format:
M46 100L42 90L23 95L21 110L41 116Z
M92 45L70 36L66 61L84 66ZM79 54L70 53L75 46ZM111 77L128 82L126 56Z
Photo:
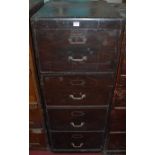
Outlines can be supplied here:
M123 7L122 7L123 6ZM46 3L32 19L125 18L125 5L103 0L58 0Z

